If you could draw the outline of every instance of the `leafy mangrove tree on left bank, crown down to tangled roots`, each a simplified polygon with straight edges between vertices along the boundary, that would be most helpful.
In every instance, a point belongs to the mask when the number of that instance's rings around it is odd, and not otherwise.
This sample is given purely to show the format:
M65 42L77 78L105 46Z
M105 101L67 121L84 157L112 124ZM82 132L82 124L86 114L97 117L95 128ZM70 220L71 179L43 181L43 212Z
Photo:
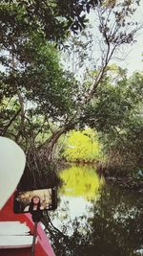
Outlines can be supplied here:
M69 98L72 99L73 90L72 86L69 91L71 83L58 64L54 46L37 42L37 38L30 39L32 43L28 48L31 51L26 51L25 57L28 59L25 59L23 67L19 68L22 63L19 62L21 54L16 54L14 62L17 65L14 72L9 68L0 74L1 134L14 139L27 153L27 171L22 178L23 189L25 186L42 186L42 182L44 186L47 180L45 175L51 177L47 186L50 180L49 186L57 184L57 178L51 173L51 163L48 159L45 161L43 155L39 157L38 147L43 144L45 137L51 137L51 121L54 119L56 122L60 116L65 117L64 111L68 114L68 108L72 108L72 100ZM7 61L5 64L7 67ZM63 97L61 101L60 96ZM43 140L39 136L41 133Z

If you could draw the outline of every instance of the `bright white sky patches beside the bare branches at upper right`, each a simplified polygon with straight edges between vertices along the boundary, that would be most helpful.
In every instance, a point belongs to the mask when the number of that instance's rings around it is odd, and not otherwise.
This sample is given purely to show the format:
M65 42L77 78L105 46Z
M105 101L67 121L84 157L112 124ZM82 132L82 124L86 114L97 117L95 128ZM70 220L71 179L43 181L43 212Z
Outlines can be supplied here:
M101 51L99 48L98 38L100 39L101 37L97 28L97 17L95 16L94 12L95 11L92 11L88 15L88 18L92 25L92 29L88 29L92 32L92 52L90 52L88 48L84 50L85 53L88 53L89 57L92 56L92 61L87 58L86 60L84 60L83 66L79 67L80 62L78 63L78 55L76 54L69 54L69 56L66 56L65 58L65 63L63 61L64 66L67 66L67 68L72 71L75 74L76 78L79 80L83 79L83 74L85 73L86 69L92 70L94 69L94 63L100 62L99 57ZM138 6L136 12L132 16L132 19L133 21L138 21L139 24L143 24L143 0L140 1L140 6ZM88 37L88 39L90 41L90 37ZM88 41L88 39L86 37L83 38L81 35L81 40L83 42L86 42L86 40ZM124 47L124 50L122 49L119 53L116 54L119 60L114 58L111 61L111 63L116 63L120 67L127 69L128 76L132 76L134 71L143 71L143 29L135 35L134 39L136 42L134 42L133 45L131 45L131 43L128 44L126 47Z

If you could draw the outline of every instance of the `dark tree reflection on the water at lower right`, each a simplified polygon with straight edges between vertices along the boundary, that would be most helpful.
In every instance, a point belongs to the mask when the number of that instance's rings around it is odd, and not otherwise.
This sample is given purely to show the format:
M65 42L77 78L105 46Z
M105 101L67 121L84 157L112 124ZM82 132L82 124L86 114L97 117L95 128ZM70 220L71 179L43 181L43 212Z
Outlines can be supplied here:
M113 186L92 201L92 217L68 218L61 231L49 224L56 256L135 256L143 245L142 198ZM66 205L68 207L68 204ZM78 207L78 206L76 206ZM63 211L67 211L66 208ZM69 226L72 234L69 235Z

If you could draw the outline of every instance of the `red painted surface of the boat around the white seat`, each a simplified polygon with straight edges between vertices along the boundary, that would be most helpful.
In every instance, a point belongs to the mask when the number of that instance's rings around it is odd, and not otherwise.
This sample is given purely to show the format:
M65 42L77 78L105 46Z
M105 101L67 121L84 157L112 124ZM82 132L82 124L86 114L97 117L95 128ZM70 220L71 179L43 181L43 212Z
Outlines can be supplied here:
M11 197L0 211L0 221L20 221L26 223L33 233L34 223L31 214L14 214L12 211L13 198ZM44 230L38 223L37 243L35 245L35 256L55 256L50 241ZM31 248L0 249L0 256L31 256Z

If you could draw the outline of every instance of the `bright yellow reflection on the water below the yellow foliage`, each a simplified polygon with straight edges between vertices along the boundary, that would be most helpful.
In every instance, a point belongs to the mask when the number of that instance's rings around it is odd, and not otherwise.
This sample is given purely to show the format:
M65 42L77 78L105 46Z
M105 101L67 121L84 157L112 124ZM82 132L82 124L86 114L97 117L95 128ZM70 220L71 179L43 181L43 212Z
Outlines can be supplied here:
M92 166L72 166L60 173L63 186L60 194L65 196L83 197L92 200L100 195L99 188L104 179L99 178Z

